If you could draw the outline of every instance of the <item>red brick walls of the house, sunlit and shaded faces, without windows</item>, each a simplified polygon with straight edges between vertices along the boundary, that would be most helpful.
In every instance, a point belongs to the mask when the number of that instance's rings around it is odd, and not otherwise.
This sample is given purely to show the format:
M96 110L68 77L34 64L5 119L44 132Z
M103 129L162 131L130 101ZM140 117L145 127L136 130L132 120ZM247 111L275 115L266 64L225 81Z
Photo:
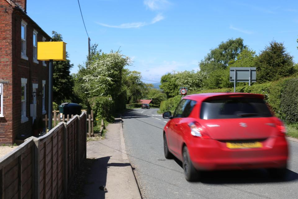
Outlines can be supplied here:
M21 59L21 21L26 26L26 55L28 60ZM49 41L47 35L32 23L21 11L11 8L5 0L0 0L0 81L3 84L3 111L0 118L0 143L13 144L21 135L32 135L32 117L30 117L30 104L33 103L32 84L38 84L37 89L37 117L42 115L42 81L46 80L45 109L48 109L48 62L47 67L42 61L33 62L33 30L38 31L37 40L42 41L43 36ZM21 123L21 78L27 79L26 85L26 116L29 120Z

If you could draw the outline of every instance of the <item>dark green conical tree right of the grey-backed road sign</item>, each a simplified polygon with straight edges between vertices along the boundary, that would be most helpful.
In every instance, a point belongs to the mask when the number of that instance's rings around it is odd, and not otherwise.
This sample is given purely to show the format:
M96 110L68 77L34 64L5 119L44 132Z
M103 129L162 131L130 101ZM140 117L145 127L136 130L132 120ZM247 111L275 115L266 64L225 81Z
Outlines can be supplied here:
M294 73L293 56L287 53L283 43L271 41L255 59L257 81L276 81Z

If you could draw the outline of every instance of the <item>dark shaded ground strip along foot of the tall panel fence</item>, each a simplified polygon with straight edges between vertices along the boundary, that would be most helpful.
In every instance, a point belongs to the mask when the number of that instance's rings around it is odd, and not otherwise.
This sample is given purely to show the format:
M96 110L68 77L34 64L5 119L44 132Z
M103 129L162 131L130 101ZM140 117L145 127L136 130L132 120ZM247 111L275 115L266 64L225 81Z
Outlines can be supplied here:
M84 160L77 172L75 172L75 178L70 184L69 191L67 193L67 198L69 199L79 199L85 196L84 186L88 183L87 177L91 171L93 162L96 161L93 159L87 158Z

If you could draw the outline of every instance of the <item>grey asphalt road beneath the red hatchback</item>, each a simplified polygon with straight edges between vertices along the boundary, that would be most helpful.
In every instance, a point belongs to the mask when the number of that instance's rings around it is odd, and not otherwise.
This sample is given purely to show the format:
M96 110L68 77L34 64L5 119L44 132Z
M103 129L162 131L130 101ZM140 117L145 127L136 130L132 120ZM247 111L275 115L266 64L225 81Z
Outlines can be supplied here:
M189 183L179 160L166 160L162 131L167 119L158 109L131 109L122 115L124 140L144 199L298 198L298 142L289 141L290 161L284 180L265 169L204 172Z

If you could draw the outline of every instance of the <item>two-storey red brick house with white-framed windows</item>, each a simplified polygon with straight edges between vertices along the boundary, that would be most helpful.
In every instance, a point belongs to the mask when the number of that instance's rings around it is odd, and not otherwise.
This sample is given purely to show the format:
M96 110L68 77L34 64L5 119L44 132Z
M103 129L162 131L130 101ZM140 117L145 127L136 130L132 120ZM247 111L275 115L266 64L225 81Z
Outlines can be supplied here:
M0 143L32 136L48 109L48 62L37 60L47 35L27 14L26 0L0 0Z

